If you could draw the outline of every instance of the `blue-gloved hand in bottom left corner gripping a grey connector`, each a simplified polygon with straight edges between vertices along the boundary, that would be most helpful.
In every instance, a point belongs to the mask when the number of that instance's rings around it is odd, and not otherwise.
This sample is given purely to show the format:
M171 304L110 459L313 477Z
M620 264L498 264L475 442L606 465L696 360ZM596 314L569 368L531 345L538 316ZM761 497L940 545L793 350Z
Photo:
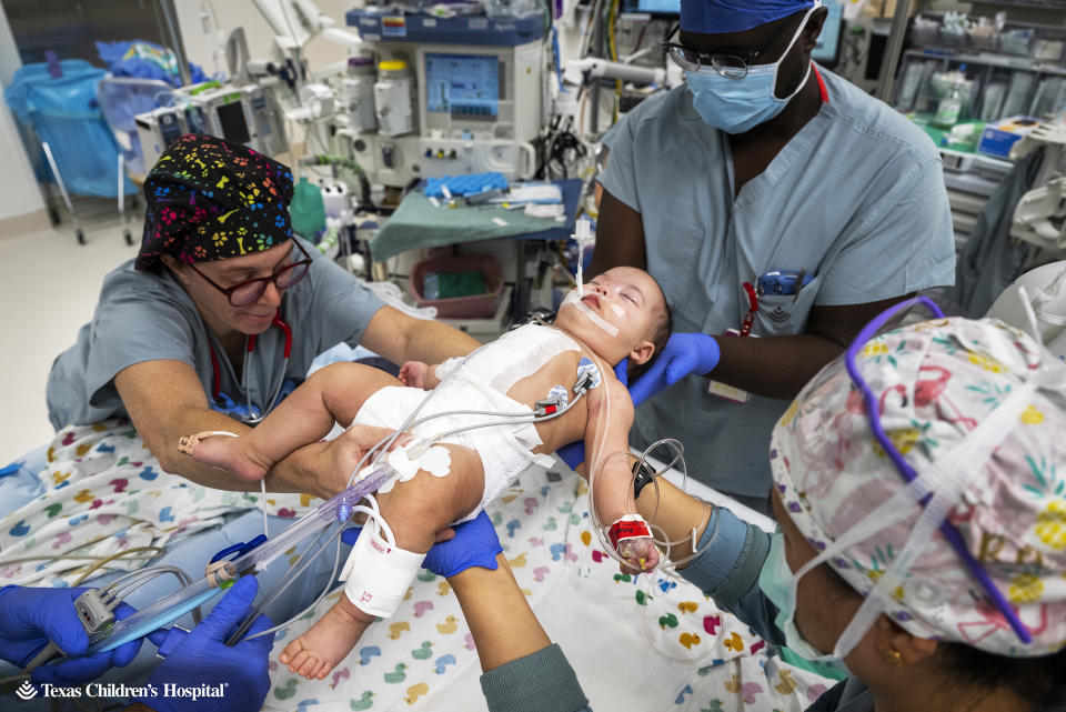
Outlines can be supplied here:
M22 668L48 643L54 642L68 655L89 648L89 635L78 619L73 601L88 589L34 589L8 585L0 589L0 658ZM119 620L135 611L124 603L114 609ZM58 686L80 685L95 680L111 668L123 668L137 656L141 641L131 641L112 651L41 665L30 673L33 682Z

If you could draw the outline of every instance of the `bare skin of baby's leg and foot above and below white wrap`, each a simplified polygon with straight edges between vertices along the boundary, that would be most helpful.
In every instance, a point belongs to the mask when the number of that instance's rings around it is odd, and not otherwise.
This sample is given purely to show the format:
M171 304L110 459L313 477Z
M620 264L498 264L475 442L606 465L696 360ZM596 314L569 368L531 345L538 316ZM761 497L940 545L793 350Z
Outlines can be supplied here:
M425 470L378 495L381 513L392 528L396 546L425 553L436 532L470 514L481 503L485 479L481 458L461 445L445 448L449 473L434 477ZM322 680L351 652L374 616L360 610L348 595L340 600L306 633L289 643L279 660L289 670L310 680Z

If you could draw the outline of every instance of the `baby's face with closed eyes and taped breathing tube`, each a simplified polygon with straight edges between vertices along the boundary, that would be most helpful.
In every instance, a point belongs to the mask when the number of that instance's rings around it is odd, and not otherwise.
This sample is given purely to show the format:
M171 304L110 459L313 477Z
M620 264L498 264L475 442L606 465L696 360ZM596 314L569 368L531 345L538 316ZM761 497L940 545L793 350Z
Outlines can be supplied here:
M612 365L650 343L666 301L655 280L632 267L616 267L585 283L563 300L556 325L572 332ZM634 357L635 358L635 357Z

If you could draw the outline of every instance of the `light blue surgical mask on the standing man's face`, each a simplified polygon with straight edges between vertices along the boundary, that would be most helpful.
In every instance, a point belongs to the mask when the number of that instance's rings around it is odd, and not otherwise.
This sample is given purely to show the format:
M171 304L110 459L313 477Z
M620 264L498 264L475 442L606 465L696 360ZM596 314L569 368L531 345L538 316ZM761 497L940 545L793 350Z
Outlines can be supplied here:
M782 52L781 59L770 64L753 64L747 68L747 76L743 79L723 77L713 67L701 67L695 71L685 72L685 82L692 92L692 106L703 119L704 123L721 129L726 133L744 133L761 123L766 123L800 93L811 77L811 64L807 73L796 90L784 99L774 96L777 87L777 72L782 61L788 57L792 46L796 43L807 19L818 7L815 3L800 23L800 29L792 36L788 47Z

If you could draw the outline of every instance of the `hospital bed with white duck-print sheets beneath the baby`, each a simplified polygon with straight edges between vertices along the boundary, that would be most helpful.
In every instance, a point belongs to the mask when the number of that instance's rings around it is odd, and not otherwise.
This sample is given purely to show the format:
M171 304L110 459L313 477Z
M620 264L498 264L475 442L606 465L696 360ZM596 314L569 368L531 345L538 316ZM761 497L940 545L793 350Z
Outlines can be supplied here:
M667 477L680 484L680 473ZM710 488L692 480L686 487L744 512ZM489 513L520 585L549 635L563 646L594 709L803 710L832 685L768 656L763 641L684 581L620 574L591 532L586 492L561 462L549 471L531 468ZM315 502L269 495L270 534ZM165 549L152 564L178 565L199 576L212 553L262 532L258 508L258 494L207 490L161 472L128 422L64 429L0 477L0 584L36 579L38 585L70 585L78 573L73 565L84 563L12 563L24 556L99 556L145 544ZM755 512L744 514L772 528ZM36 541L27 546L30 540ZM98 541L72 549L89 540ZM115 565L147 564L121 561ZM292 561L275 561L260 574L261 588L282 580ZM329 581L332 564L332 555L323 556L268 613L280 622L302 610ZM89 583L117 575L112 571ZM135 591L130 602L147 605L174 585L160 579ZM279 634L265 710L483 709L481 670L457 601L443 579L428 572L398 614L371 625L325 680L305 681L279 665L286 641L306 630L336 595L340 590ZM103 681L143 683L154 660L154 645L145 643L132 665ZM114 701L100 702L105 708ZM20 709L47 706L38 700Z

